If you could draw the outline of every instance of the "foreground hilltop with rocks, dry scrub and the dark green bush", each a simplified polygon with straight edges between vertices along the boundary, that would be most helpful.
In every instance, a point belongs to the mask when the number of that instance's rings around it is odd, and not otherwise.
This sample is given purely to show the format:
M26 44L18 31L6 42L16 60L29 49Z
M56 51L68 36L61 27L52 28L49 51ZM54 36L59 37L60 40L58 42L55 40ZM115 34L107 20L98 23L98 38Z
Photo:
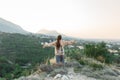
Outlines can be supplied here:
M105 45L86 43L84 50L66 47L65 65L56 66L48 59L47 65L39 64L35 72L14 80L119 80L120 56L110 54Z

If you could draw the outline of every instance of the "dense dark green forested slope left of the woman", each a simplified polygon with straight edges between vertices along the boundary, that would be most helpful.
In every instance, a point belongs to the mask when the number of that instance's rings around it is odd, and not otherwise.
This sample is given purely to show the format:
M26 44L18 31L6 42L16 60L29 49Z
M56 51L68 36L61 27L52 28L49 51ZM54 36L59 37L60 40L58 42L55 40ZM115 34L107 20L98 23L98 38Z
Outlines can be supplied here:
M30 74L37 63L53 57L53 48L43 49L41 45L49 40L52 38L0 33L0 77L13 80Z

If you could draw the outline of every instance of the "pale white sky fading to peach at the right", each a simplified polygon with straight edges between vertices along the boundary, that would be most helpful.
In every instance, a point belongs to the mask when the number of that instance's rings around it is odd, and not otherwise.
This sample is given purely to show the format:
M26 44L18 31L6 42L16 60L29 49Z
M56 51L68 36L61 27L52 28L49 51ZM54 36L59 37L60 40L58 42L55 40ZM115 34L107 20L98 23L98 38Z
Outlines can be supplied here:
M33 33L120 39L120 0L0 0L0 17Z

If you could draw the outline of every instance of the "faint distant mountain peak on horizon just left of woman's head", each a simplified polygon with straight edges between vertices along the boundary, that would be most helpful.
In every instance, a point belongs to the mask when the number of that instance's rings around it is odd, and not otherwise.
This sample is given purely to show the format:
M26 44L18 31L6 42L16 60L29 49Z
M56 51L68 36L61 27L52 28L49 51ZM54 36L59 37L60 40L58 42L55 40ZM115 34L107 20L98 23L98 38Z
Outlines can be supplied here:
M41 29L40 31L37 32L37 34L44 34L44 35L48 35L48 36L62 35L63 37L66 37L66 35L61 34L55 30L46 30L46 29Z

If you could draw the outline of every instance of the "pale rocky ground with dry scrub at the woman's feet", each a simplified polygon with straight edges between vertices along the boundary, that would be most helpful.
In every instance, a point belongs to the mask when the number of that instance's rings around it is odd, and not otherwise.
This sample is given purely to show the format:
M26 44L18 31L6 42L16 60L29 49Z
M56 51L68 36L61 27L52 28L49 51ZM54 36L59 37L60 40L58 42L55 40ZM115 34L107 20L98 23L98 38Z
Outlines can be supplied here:
M63 66L40 65L30 76L22 76L15 80L120 80L120 70L105 66L94 70L76 62L68 62ZM77 72L76 72L77 70Z

